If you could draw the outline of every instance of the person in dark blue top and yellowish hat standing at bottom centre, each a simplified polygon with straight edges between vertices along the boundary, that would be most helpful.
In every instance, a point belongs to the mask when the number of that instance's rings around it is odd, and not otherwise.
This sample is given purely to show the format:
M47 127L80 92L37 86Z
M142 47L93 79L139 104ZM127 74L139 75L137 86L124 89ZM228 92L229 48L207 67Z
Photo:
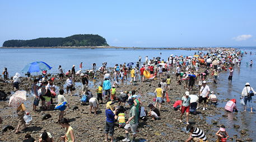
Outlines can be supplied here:
M113 142L114 139L114 125L115 125L115 119L117 119L117 107L115 107L115 111L113 112L113 102L109 101L106 103L106 129L105 129L105 141L108 141L108 133L110 135L111 142Z

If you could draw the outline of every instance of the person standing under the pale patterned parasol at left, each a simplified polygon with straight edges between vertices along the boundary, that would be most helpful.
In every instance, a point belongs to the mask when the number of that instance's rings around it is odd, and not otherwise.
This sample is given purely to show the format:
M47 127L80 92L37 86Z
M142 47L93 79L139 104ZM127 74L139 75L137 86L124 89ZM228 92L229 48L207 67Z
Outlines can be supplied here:
M20 126L23 124L24 125L24 129L23 130L26 130L26 129L29 129L29 127L26 126L26 122L25 120L23 119L24 115L25 115L25 111L26 111L26 108L24 106L24 103L21 103L21 105L17 108L17 115L18 115L18 126L17 126L17 129L15 131L15 134L19 134L21 133L20 131L18 131L20 129Z

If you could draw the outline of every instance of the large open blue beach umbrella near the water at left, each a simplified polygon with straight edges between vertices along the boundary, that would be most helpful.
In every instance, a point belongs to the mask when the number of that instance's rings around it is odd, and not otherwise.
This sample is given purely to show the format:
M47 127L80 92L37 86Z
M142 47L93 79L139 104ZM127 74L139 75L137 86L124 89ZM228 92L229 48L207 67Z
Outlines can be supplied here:
M40 72L44 71L44 70L50 70L52 69L52 67L50 67L48 64L44 63L43 61L35 61L33 63L29 63L28 65L26 65L26 67L24 69L22 69L22 73L32 73L32 72Z

